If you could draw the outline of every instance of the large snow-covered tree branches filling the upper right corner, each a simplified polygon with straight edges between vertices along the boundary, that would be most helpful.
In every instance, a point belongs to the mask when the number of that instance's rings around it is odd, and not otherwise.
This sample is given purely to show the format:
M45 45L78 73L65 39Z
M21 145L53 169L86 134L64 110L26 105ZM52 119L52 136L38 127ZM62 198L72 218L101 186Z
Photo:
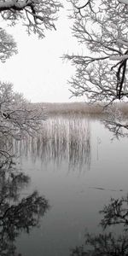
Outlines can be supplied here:
M70 80L73 96L90 102L128 97L128 1L69 0L73 35L83 53L64 55L76 67Z

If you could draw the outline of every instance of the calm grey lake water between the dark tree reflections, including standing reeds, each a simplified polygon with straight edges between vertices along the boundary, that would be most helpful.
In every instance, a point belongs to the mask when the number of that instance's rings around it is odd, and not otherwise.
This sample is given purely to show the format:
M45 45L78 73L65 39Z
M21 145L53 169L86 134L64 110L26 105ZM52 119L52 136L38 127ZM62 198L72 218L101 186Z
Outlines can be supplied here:
M39 227L17 236L18 253L67 256L86 231L102 230L99 211L128 192L128 141L112 138L99 119L56 117L44 122L38 138L15 145L19 166L31 177L21 196L38 190L50 206Z

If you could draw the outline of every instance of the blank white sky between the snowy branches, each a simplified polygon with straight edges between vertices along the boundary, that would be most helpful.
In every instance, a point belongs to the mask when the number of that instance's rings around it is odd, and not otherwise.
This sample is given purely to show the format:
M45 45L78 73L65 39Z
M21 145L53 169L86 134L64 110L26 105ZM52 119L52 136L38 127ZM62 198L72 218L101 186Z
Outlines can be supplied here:
M28 36L23 26L5 27L14 35L18 54L0 63L0 78L13 83L14 90L23 93L31 102L83 101L83 98L69 99L67 79L75 69L69 62L63 62L61 55L78 52L79 44L72 36L67 10L61 9L58 15L57 31L45 32L44 39L38 39L38 35Z

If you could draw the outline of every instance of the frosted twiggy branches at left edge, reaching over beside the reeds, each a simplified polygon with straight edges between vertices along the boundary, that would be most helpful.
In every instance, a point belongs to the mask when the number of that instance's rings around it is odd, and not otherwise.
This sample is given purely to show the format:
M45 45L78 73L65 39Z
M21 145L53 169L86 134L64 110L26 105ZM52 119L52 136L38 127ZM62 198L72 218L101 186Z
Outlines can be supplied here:
M0 156L10 156L13 139L35 136L42 129L44 109L33 107L12 84L0 82Z

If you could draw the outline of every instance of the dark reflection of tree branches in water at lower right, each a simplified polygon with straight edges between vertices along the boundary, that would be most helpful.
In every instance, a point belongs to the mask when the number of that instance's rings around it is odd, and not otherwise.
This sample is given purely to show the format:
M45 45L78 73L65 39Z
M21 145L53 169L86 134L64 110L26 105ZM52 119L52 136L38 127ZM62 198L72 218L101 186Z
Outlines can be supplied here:
M128 195L121 199L111 199L108 206L100 211L104 214L101 225L103 230L112 224L123 224L128 226ZM102 233L99 235L85 234L84 245L75 247L71 256L127 256L128 234L127 229L120 236L113 233Z

